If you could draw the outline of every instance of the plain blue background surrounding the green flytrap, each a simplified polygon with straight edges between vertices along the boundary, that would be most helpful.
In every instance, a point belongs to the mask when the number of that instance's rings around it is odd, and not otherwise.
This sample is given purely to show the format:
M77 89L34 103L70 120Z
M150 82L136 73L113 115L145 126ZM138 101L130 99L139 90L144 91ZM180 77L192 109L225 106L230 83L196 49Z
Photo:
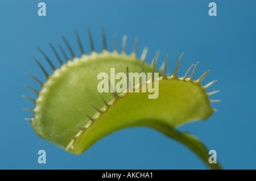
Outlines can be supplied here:
M105 26L109 50L117 33L118 51L126 34L127 53L139 37L137 56L148 47L147 62L160 51L160 67L169 52L173 72L182 52L178 75L200 61L194 75L210 69L203 85L218 79L208 91L221 90L212 99L218 110L207 121L179 128L198 137L217 151L225 169L255 167L255 22L256 1L213 1L217 16L209 16L212 1L46 1L47 16L38 16L41 1L0 1L0 169L207 169L201 160L178 142L149 128L115 132L77 156L38 137L24 117L34 108L21 95L36 98L26 83L40 90L26 72L46 81L30 55L51 68L35 47L58 62L47 44L61 43L63 34L77 56L76 29L86 53L90 53L86 26L92 30L94 47L102 50L100 24ZM55 46L57 49L57 47ZM57 49L59 52L59 49ZM60 53L60 52L59 52ZM70 54L68 54L71 58ZM63 58L63 57L61 57ZM38 150L46 150L47 163L38 163Z

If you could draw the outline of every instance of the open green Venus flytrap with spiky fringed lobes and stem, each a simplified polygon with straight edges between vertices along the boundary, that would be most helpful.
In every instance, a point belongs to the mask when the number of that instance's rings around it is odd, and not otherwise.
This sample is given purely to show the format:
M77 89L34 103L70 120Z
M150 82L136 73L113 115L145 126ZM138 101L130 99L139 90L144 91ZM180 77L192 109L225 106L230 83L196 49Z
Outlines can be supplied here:
M218 163L210 164L208 162L208 150L196 137L175 129L175 127L191 121L206 120L212 115L214 109L210 103L216 102L216 100L209 100L208 96L217 91L207 93L205 90L214 81L206 86L201 86L201 81L208 71L205 71L196 81L193 80L196 64L190 66L183 77L178 78L177 71L183 55L181 54L174 74L167 77L167 54L161 75L160 70L155 66L156 57L152 65L145 62L147 48L143 50L141 59L137 58L138 39L135 40L134 49L130 55L125 53L126 36L123 36L120 54L116 50L116 39L114 39L113 52L109 52L103 28L104 50L101 53L94 51L92 35L88 28L92 53L86 55L79 35L76 31L75 33L82 54L80 58L75 56L64 36L62 38L73 60L68 59L67 54L59 45L65 60L67 60L64 63L53 45L49 43L61 65L59 69L56 69L46 54L38 48L54 70L52 75L49 75L40 62L32 57L47 77L47 81L43 83L28 74L42 86L42 90L37 91L27 86L38 95L38 99L33 100L24 96L35 103L34 110L26 109L34 113L34 116L27 120L30 120L32 127L40 137L73 154L81 154L102 137L120 129L150 127L187 146L211 169L221 169ZM192 73L188 77L193 66ZM121 82L113 82L112 79L108 79L107 75L110 77L112 75L110 74L112 68L115 72L122 73L123 76L119 74L117 77L117 79L122 77ZM102 76L101 73L105 74ZM139 78L142 81L138 83L131 81L132 76L129 73L138 73L138 75L142 73L141 75L147 74L151 77L146 79L145 76L141 76ZM156 77L155 73L159 73L161 76ZM104 78L104 82L101 82L102 78ZM110 91L109 89L108 91L98 91L98 87L102 87L102 85L104 85L104 90L106 89L106 80ZM123 85L121 86L121 84ZM122 92L117 92L116 87L122 87ZM157 94L152 94L156 89L158 90ZM154 96L154 98L150 98L150 96Z

